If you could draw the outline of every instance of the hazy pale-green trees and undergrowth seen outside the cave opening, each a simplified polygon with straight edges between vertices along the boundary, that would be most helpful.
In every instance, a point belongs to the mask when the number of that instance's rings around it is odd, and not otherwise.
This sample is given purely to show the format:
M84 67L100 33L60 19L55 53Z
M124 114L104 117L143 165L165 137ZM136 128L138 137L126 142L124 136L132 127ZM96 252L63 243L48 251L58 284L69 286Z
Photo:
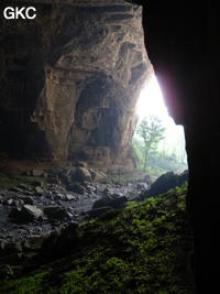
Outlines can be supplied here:
M163 139L165 139L164 142ZM182 152L179 152L179 146L182 146ZM154 116L140 122L132 140L132 157L136 162L136 167L146 170L153 175L187 170L184 150L184 138L182 138L170 151L165 129L160 119Z

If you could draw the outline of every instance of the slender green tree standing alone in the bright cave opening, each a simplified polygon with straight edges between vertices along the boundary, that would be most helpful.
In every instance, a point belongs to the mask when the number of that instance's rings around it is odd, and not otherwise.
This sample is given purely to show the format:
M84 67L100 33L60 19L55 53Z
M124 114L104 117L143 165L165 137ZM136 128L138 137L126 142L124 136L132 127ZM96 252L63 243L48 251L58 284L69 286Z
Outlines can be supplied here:
M143 141L144 172L146 171L147 156L157 149L158 142L164 139L164 131L165 128L156 116L144 118L136 128L136 133Z

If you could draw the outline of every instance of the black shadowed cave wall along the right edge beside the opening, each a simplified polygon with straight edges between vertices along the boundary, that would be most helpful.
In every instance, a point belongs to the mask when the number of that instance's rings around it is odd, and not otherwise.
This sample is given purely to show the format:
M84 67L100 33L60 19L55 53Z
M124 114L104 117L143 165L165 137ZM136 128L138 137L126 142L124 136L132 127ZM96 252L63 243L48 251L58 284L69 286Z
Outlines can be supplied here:
M194 228L197 288L198 293L213 293L215 260L219 258L218 181L215 172L206 177L204 171L218 171L219 166L219 20L216 7L209 4L148 1L143 6L150 59L175 120L185 127L187 208Z

